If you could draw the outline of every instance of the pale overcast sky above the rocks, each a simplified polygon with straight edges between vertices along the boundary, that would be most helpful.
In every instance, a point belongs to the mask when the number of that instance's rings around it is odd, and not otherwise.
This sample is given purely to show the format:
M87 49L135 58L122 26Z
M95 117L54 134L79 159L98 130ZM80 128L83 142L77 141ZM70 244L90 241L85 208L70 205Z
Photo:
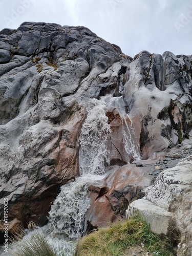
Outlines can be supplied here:
M0 30L25 21L85 26L134 57L192 54L191 0L0 0Z

